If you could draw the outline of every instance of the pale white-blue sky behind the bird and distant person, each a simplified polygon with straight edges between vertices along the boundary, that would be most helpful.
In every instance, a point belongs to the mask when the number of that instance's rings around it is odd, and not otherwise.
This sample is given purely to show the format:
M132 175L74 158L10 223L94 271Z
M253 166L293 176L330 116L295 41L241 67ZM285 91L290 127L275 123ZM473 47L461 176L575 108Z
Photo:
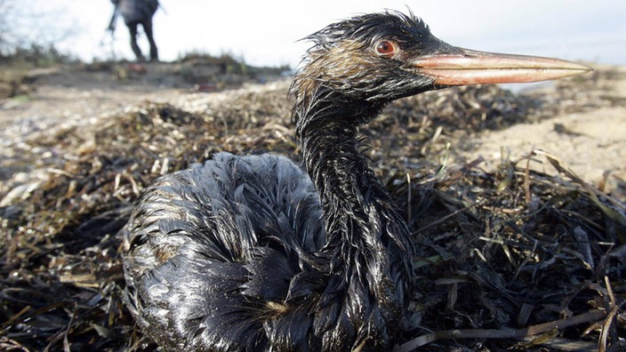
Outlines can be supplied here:
M409 6L433 34L449 44L491 52L514 52L626 64L626 1L596 0L160 0L154 18L161 60L186 52L229 52L253 65L295 67L309 44L298 40L350 15ZM15 3L14 3L15 4ZM38 26L67 31L61 50L82 60L133 59L119 19L115 40L105 33L109 0L22 0L43 14ZM27 9L28 10L28 9ZM44 36L42 34L41 36ZM148 52L145 37L140 46Z

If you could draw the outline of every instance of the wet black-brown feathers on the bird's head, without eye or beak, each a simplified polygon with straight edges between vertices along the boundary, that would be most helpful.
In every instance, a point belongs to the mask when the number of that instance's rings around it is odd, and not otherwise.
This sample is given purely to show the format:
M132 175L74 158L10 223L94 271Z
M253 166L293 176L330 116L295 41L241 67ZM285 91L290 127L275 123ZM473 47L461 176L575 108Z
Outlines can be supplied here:
M296 105L319 113L336 106L358 109L349 113L361 117L359 123L377 116L390 100L440 88L433 86L432 78L416 75L407 65L411 59L458 51L433 36L413 13L401 12L364 14L331 24L306 39L314 45L293 81ZM398 45L393 59L376 54L375 44L383 39Z

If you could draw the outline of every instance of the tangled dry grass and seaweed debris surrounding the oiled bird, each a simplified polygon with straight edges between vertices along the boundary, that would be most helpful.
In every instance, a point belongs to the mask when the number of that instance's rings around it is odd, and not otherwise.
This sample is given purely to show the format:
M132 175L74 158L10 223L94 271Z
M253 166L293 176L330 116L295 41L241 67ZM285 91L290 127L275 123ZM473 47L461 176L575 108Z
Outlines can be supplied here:
M541 150L502 160L497 172L480 160L445 164L474 132L624 104L606 90L586 95L617 73L595 75L558 83L555 96L488 85L429 92L392 104L363 131L421 253L400 350L624 343L624 199ZM299 160L286 84L197 99L188 108L146 101L92 128L39 133L3 156L0 348L155 348L121 301L116 231L141 189L221 150ZM530 170L531 158L558 172Z

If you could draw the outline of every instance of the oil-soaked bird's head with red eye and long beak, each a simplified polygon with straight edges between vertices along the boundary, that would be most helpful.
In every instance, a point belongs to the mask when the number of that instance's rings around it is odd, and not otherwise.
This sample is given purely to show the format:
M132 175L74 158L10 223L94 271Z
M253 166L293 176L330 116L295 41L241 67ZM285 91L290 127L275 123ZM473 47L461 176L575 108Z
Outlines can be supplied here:
M413 13L364 14L305 39L314 45L292 84L296 105L333 100L380 108L446 86L534 82L591 69L565 60L455 47L433 36Z

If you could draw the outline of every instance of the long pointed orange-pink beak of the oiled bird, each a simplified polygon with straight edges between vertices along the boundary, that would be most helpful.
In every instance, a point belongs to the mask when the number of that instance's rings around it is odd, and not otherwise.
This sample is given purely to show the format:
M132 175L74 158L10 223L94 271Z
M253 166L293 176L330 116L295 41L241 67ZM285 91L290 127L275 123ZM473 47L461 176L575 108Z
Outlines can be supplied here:
M455 49L460 52L421 57L413 68L440 85L537 82L593 70L566 60Z

